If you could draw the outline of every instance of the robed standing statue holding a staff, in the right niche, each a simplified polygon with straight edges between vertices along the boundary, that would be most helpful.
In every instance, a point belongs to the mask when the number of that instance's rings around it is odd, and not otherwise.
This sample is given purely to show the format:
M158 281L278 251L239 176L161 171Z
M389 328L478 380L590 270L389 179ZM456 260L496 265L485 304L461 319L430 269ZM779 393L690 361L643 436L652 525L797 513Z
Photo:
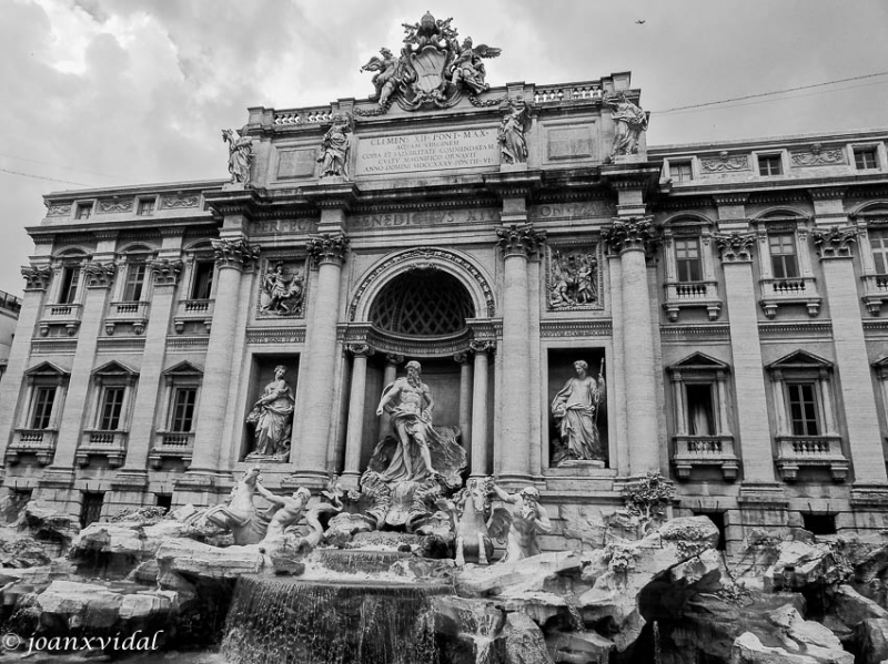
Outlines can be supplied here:
M552 400L552 415L558 422L563 446L553 454L555 466L569 459L605 458L597 423L598 408L605 397L604 376L601 370L597 380L588 376L589 366L583 360L575 361L574 369L576 377L568 378Z

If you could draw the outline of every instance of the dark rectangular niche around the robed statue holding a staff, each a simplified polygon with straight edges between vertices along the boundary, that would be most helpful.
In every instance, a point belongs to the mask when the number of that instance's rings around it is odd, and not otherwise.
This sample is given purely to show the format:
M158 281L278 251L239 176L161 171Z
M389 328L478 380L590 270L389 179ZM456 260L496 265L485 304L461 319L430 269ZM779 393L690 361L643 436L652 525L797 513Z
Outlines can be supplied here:
M610 468L607 401L614 398L613 395L607 394L608 390L605 389L597 407L589 416L581 408L571 408L572 401L584 398L585 392L578 388L572 389L567 385L571 379L577 378L574 362L579 360L588 365L586 375L597 382L604 357L604 348L553 348L548 351L545 408L548 413L549 468L562 471L574 469L579 474L585 474L588 470ZM606 367L604 379L605 384L609 382ZM553 407L556 398L558 403ZM562 413L564 417L561 417ZM595 429L597 429L597 445L592 433ZM574 441L568 445L571 437L574 437ZM598 449L601 453L589 454L589 449ZM589 456L598 458L581 458Z

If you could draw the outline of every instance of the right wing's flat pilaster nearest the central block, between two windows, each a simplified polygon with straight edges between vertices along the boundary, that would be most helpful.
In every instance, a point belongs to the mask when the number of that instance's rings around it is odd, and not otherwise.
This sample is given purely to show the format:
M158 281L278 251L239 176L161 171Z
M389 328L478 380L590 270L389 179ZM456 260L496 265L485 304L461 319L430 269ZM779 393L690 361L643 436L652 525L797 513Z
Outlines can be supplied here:
M725 270L734 380L737 396L737 427L743 449L744 484L774 484L774 449L768 425L768 400L765 394L765 372L761 344L758 337L756 284L753 280L753 233L734 232L716 235ZM776 388L779 391L779 386ZM775 400L783 394L775 394ZM777 407L778 418L783 417Z

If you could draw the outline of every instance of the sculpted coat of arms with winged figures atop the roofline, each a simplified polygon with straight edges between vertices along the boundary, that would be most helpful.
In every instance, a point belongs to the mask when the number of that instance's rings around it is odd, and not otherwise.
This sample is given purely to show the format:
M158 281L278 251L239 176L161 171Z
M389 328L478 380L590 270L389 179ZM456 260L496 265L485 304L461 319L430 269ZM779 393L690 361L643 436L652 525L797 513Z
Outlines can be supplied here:
M361 68L376 72L373 85L379 114L386 112L393 101L406 111L430 105L446 109L465 94L473 100L490 88L484 81L483 59L496 58L501 49L475 47L470 37L461 44L451 21L452 18L436 20L425 12L418 23L403 23L406 37L401 55L382 48L380 55Z

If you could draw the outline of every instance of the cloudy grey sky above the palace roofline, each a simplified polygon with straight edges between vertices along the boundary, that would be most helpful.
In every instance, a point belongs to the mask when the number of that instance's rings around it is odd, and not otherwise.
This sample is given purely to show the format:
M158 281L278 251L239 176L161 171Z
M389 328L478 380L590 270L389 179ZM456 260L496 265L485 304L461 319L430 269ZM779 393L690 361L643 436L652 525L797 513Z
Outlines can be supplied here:
M42 194L225 177L246 108L363 98L359 68L431 10L503 49L487 81L630 70L648 144L888 126L885 0L0 0L0 289L19 294ZM638 24L636 20L645 20Z

